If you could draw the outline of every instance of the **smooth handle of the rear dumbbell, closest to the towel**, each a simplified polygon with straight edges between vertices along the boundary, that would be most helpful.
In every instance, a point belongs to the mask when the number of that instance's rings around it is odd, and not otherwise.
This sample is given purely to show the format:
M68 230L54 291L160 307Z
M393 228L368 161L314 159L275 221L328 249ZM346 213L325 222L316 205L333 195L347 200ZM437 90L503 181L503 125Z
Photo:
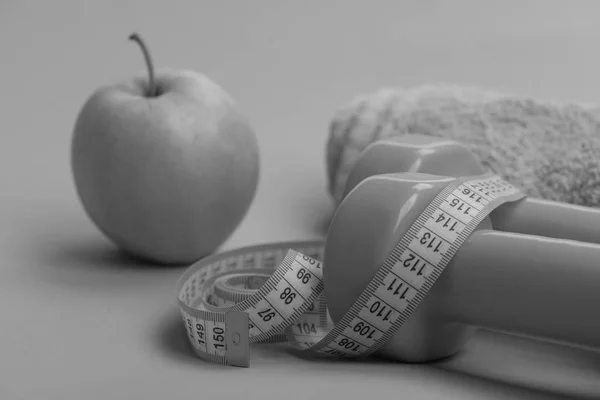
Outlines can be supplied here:
M494 229L600 243L600 210L528 197L494 210Z

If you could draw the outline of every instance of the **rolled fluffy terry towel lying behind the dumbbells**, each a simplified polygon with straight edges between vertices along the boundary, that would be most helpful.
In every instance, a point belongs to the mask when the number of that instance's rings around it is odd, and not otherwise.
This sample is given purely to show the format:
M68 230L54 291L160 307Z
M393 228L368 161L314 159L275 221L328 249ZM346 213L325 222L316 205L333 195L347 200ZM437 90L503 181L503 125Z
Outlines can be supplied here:
M468 146L488 170L529 196L600 204L600 106L471 87L384 88L334 116L327 142L329 192L342 200L360 152L375 140L418 133Z

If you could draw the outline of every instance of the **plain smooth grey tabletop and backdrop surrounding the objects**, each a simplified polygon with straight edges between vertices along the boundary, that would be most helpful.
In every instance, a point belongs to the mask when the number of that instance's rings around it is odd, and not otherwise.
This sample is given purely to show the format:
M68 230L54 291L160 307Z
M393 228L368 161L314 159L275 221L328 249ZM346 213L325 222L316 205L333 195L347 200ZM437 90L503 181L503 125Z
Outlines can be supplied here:
M258 134L258 193L222 249L323 238L337 108L436 82L600 102L599 15L592 0L1 1L0 398L600 398L597 354L483 331L427 365L300 359L285 345L253 346L250 368L205 363L176 306L186 266L117 251L69 169L83 102L144 69L137 31L157 66L222 85Z

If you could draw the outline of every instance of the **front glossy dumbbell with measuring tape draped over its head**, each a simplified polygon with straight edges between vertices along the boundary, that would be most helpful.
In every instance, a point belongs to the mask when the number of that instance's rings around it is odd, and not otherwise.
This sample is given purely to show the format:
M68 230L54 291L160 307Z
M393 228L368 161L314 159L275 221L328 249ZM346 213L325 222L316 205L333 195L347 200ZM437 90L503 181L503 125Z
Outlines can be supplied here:
M412 166L395 166L422 171L428 154L436 154L441 144L419 143ZM409 148L406 142L402 146ZM447 146L439 154L448 160L462 151L456 145ZM443 156L436 158L429 168L444 169L443 160ZM363 157L358 167L372 166L368 161ZM443 172L465 175L476 167L467 159L462 164L450 163ZM376 167L365 171L380 172ZM409 226L455 179L423 172L376 173L360 180L358 175L353 176L355 185L332 217L325 242L324 290L335 323L365 290ZM536 210L535 204L545 208ZM506 209L478 225L410 318L375 355L405 362L448 357L461 350L477 327L600 347L600 244L558 238L565 232L587 237L593 229L578 226L588 221L577 211L596 218L597 214L531 199L500 207ZM535 218L527 216L528 212L535 213ZM545 224L536 219L543 217L558 222ZM529 230L519 218L525 218L538 233L554 226L561 231L548 232L555 234L550 237L493 229Z

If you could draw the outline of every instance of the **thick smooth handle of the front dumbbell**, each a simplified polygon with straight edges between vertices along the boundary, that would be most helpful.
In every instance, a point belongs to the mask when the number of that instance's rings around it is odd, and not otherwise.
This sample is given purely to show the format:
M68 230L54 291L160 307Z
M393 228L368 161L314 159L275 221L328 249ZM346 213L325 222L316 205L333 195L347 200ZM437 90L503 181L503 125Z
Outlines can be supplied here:
M600 245L478 230L452 264L451 319L600 348Z

